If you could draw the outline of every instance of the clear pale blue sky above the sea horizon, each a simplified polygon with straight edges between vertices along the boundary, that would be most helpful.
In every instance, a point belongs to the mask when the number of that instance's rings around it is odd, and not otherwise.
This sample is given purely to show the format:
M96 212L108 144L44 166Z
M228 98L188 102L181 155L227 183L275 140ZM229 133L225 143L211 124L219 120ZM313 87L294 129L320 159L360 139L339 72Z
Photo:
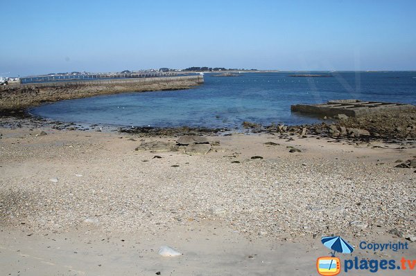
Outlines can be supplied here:
M416 1L0 0L0 75L416 70Z

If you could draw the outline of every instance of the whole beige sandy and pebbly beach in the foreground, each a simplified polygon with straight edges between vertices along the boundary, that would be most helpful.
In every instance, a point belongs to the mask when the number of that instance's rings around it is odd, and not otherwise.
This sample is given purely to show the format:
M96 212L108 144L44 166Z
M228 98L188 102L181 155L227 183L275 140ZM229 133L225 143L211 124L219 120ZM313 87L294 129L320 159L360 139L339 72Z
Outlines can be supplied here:
M316 275L332 234L350 258L415 256L415 169L395 167L415 158L411 140L234 133L200 155L140 148L175 136L18 125L0 129L5 275Z

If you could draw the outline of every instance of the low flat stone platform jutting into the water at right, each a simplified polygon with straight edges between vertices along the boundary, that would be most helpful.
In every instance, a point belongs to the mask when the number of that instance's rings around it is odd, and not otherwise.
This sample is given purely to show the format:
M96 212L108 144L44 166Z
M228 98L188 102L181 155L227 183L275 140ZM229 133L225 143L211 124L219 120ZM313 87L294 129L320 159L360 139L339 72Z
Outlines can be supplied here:
M309 113L318 116L336 116L344 114L349 117L390 111L416 110L413 104L395 102L365 102L361 100L330 100L322 104L294 104L291 111Z

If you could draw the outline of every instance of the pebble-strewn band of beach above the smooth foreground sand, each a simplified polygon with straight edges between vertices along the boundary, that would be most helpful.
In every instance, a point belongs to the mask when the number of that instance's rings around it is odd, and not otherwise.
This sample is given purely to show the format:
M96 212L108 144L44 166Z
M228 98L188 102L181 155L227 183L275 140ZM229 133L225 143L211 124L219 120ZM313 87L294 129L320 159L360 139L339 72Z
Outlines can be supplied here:
M348 157L361 150L351 145L308 154L327 141L310 138L315 143L300 146L304 139L276 139L271 150L264 134L232 136L222 138L223 151L189 156L135 151L140 141L110 133L1 132L1 226L152 234L216 220L251 237L360 237L379 229L415 236L414 169L376 163L365 153ZM288 153L288 145L302 152ZM414 148L400 150L406 158L415 155ZM265 157L247 157L257 155Z

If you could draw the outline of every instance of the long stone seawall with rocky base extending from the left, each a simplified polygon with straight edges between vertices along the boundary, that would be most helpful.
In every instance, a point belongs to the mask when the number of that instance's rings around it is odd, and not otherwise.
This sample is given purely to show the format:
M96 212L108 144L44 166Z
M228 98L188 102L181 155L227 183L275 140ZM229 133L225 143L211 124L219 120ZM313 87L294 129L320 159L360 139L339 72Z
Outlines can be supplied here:
M191 75L6 85L0 86L0 111L26 109L44 102L88 98L94 95L190 89L203 82L202 75Z

